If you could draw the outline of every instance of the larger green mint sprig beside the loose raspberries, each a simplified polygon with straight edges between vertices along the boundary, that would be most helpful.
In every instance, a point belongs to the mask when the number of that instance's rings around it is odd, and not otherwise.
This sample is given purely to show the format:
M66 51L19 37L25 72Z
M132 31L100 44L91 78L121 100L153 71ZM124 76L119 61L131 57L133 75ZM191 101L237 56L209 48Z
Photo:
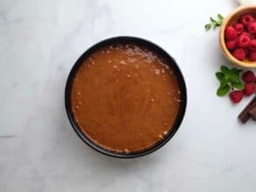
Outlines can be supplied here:
M243 70L239 68L227 68L221 66L220 71L215 75L220 85L217 89L217 96L224 96L230 92L231 89L244 89L244 84L241 81L240 73Z

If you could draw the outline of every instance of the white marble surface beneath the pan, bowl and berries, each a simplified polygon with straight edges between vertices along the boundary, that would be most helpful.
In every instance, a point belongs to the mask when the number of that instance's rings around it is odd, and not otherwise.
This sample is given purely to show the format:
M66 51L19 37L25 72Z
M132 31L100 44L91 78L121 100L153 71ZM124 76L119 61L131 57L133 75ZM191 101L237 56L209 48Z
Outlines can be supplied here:
M253 192L256 127L215 95L214 73L227 63L210 16L234 0L1 0L0 191ZM117 35L150 39L179 63L188 108L179 132L146 157L117 160L77 137L64 108L75 60Z

